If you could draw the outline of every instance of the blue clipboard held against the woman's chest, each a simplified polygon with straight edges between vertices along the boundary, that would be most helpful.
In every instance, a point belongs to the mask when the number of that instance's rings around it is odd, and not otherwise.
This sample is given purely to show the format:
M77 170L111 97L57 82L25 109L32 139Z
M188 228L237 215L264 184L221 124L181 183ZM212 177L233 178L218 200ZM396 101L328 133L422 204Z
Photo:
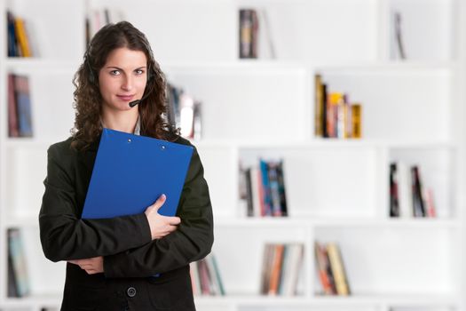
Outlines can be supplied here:
M192 146L104 129L82 218L138 214L162 194L167 199L159 213L176 215L193 150Z

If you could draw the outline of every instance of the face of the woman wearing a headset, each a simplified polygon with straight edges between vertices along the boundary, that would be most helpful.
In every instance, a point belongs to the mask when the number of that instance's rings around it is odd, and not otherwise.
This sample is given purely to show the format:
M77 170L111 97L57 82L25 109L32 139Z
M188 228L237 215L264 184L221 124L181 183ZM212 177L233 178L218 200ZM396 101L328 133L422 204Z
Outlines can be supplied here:
M118 48L110 52L99 71L99 88L105 108L129 110L130 101L140 100L147 83L147 59L142 51Z

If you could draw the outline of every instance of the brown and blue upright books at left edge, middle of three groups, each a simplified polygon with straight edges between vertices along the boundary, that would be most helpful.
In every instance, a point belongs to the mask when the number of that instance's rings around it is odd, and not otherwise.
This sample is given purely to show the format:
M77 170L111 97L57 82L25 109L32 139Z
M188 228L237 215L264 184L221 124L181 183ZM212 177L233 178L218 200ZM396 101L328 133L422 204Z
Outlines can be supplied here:
M8 136L33 136L28 76L8 75Z

